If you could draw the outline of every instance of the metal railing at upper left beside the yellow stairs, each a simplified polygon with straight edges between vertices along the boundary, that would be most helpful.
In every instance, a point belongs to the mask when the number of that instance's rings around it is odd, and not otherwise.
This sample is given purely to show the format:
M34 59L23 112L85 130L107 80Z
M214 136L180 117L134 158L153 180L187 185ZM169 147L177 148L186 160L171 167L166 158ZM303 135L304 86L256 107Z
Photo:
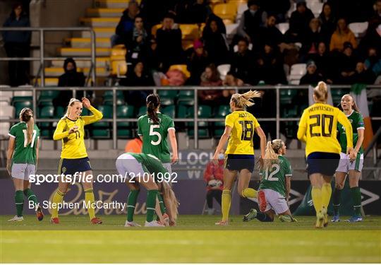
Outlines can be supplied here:
M91 42L91 55L90 57L75 57L76 60L91 61L89 76L91 76L92 84L95 84L96 80L96 66L95 66L95 32L89 27L76 27L76 28L64 28L64 27L54 27L54 28L30 28L30 27L0 27L0 32L2 31L37 31L40 33L40 57L0 57L0 61L40 61L40 68L37 71L40 76L40 85L45 86L45 61L62 60L64 61L66 57L45 57L44 56L44 33L48 31L89 31L90 32L90 42ZM88 79L88 78L87 78Z

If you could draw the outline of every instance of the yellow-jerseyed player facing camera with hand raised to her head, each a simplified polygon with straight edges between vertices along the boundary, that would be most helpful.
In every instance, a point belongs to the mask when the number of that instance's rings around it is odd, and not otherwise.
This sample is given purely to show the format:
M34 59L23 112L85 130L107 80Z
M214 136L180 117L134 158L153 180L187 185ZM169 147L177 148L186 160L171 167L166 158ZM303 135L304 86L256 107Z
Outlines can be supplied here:
M82 108L92 112L92 116L80 116ZM82 172L81 177L88 176L88 182L82 182L83 190L85 191L85 203L91 205L94 203L94 192L92 191L92 169L90 160L87 157L85 147L85 125L92 124L93 122L102 119L103 114L99 110L90 105L90 100L82 98L76 100L72 98L68 104L68 110L64 117L62 117L57 124L56 131L54 131L53 139L62 140L61 160L59 162L59 175L75 175L75 172ZM53 204L58 205L62 203L63 196L66 194L69 183L62 182L60 179L59 187L53 196ZM89 213L90 222L92 224L101 224L102 220L95 217L95 208L87 208ZM52 209L52 223L59 223L58 208Z

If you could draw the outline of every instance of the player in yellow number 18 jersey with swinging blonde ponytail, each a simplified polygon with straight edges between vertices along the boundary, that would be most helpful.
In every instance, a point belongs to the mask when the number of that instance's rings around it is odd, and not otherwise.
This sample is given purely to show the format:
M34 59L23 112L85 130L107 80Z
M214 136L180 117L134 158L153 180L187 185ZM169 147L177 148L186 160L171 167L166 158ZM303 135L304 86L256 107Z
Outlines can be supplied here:
M254 105L252 98L259 98L257 91L248 91L244 94L231 95L231 114L226 116L225 131L219 140L216 152L213 156L215 164L218 163L218 155L229 139L225 152L224 170L224 190L222 191L222 220L216 225L228 225L231 186L239 173L238 194L243 198L255 198L257 192L250 189L251 174L254 170L254 131L260 136L261 157L265 157L266 136L260 128L257 119L250 112L246 112L246 107ZM230 138L229 138L230 137Z

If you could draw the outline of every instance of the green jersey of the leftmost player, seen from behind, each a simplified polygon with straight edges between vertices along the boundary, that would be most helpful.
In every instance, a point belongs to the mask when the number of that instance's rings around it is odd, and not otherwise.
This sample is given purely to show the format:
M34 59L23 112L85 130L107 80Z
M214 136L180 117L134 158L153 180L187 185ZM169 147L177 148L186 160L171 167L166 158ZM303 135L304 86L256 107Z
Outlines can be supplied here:
M12 162L18 164L36 165L37 139L40 137L40 129L35 124L32 133L32 142L28 144L28 128L25 122L19 122L11 127L9 136L15 139L15 151Z

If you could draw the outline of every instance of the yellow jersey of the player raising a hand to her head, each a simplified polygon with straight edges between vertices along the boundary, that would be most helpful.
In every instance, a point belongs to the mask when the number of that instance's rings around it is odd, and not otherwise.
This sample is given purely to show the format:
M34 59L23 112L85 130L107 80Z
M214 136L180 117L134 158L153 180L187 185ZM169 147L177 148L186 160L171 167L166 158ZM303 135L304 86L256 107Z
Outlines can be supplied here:
M68 117L60 119L54 131L53 140L62 139L62 151L61 158L75 159L87 157L87 151L85 146L85 125L92 124L93 122L102 119L103 114L95 107L89 108L92 112L92 116L80 116L78 119L71 120ZM78 131L73 134L69 134L68 131L73 127L78 126Z

